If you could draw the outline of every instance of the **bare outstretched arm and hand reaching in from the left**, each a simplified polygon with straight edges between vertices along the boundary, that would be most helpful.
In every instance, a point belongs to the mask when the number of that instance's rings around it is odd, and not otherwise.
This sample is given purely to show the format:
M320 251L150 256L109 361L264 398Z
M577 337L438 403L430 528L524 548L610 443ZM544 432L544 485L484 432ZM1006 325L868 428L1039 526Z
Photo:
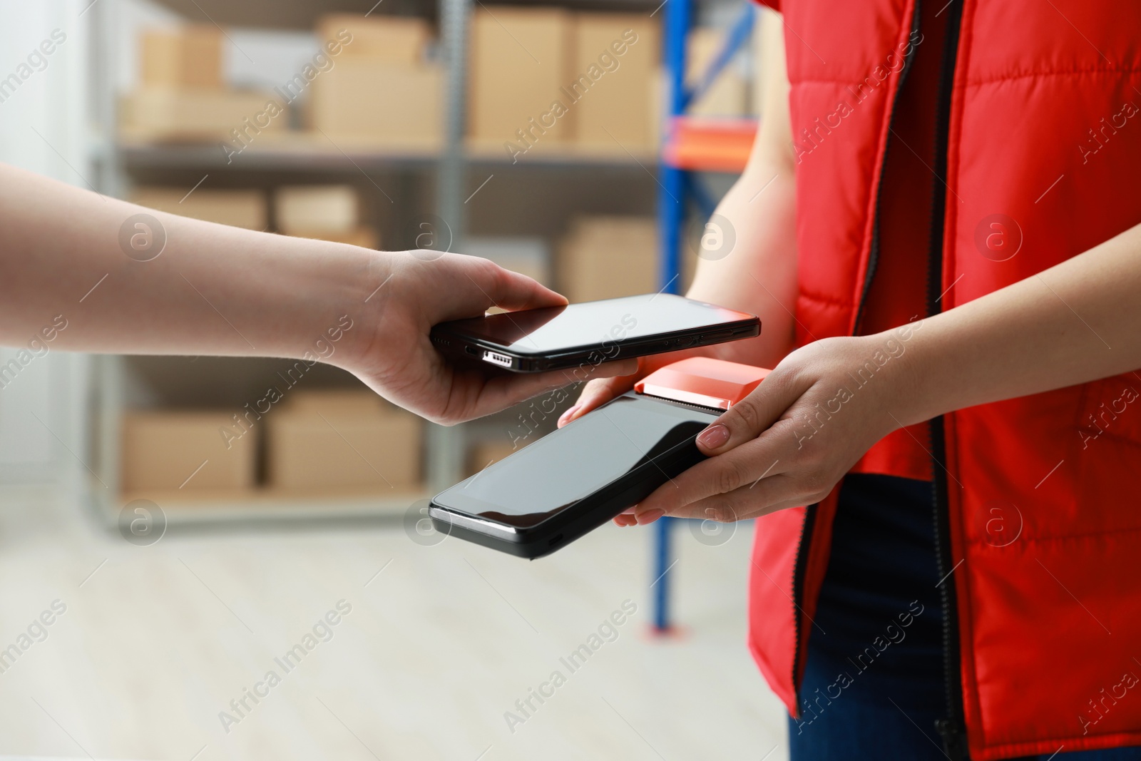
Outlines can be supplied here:
M329 362L400 406L454 423L574 379L455 367L429 342L431 326L493 305L561 303L484 259L256 233L0 165L3 346ZM626 362L596 372L632 370Z

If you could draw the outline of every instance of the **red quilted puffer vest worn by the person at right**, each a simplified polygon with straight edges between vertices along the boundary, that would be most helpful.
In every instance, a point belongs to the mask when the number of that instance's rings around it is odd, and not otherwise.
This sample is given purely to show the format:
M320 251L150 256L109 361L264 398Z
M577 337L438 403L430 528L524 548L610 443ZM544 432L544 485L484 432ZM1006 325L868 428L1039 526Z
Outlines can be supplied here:
M950 29L931 252L947 309L1141 222L1141 5L931 2ZM915 6L784 2L792 131L811 151L796 167L799 343L856 330ZM1078 315L1073 330L1090 332ZM941 729L958 755L1141 744L1139 390L1126 373L932 422ZM756 521L750 648L794 714L835 504L836 491Z

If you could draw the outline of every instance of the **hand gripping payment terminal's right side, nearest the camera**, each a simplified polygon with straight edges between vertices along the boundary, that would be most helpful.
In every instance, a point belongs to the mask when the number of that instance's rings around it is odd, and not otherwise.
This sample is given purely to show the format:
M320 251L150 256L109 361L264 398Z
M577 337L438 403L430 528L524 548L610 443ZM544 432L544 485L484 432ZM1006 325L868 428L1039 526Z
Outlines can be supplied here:
M709 460L615 523L649 524L662 516L733 521L820 501L873 444L900 427L892 405L914 389L914 380L903 351L897 358L884 350L890 340L830 338L793 351L698 435ZM861 386L858 373L868 362L876 371Z

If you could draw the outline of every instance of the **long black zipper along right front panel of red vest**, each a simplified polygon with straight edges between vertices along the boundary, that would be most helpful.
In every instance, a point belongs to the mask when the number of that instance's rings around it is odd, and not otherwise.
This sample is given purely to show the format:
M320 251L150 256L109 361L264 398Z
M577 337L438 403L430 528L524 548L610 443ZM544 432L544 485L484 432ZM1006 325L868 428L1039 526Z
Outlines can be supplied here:
M947 38L944 42L939 73L939 100L936 114L934 176L931 205L931 240L928 246L928 314L938 314L942 288L942 241L947 216L947 144L950 131L950 102L954 90L955 63L963 18L963 0L952 0L947 7ZM934 520L936 568L941 580L939 597L942 605L942 663L947 715L936 722L942 737L944 752L950 761L969 759L966 728L963 720L963 685L960 673L958 606L955 592L954 558L950 553L950 515L947 502L946 440L944 419L930 422L932 519Z

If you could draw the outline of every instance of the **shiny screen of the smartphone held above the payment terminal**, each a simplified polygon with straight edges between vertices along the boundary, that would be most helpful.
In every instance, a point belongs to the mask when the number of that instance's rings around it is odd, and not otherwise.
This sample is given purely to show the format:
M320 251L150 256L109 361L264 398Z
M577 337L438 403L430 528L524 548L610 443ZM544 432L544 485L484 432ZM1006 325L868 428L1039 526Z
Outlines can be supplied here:
M459 319L448 325L456 333L512 353L548 355L750 318L755 319L752 315L672 293L648 293Z

